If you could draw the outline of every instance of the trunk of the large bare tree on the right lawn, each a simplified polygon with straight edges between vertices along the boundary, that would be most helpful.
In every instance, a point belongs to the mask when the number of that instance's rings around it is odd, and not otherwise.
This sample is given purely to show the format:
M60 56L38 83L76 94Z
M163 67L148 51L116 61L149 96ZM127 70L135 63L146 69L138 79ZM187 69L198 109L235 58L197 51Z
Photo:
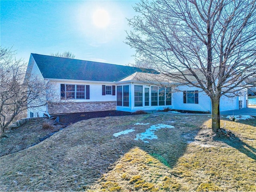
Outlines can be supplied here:
M212 102L212 132L218 132L220 128L220 96L214 95L211 97Z

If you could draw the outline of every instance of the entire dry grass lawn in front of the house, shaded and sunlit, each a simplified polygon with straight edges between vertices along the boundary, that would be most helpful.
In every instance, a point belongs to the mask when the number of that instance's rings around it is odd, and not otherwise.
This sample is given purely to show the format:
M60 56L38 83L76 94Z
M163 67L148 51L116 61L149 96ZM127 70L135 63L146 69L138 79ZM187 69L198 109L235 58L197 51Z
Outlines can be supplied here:
M240 141L212 140L207 115L82 120L2 156L0 191L256 191L256 121L224 122ZM149 143L134 140L156 124L175 128L157 130Z

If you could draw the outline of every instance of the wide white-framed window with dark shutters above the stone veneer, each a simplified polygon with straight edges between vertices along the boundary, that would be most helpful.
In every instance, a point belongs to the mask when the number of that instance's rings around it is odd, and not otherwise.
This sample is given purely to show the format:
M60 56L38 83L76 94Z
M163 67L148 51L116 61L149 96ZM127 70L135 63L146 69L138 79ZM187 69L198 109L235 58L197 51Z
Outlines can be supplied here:
M90 99L90 85L60 84L61 99Z

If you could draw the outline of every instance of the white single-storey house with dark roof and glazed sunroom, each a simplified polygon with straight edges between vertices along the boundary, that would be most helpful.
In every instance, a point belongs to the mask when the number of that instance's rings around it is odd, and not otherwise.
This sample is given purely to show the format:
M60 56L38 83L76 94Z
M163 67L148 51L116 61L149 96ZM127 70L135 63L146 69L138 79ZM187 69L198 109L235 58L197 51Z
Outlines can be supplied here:
M120 110L194 110L211 112L210 98L198 88L177 85L155 70L31 54L26 78L53 83L51 102L28 110L28 117ZM143 76L146 81L138 80ZM153 83L154 82L154 83ZM177 89L178 87L178 89ZM220 110L246 107L246 91L222 96Z

